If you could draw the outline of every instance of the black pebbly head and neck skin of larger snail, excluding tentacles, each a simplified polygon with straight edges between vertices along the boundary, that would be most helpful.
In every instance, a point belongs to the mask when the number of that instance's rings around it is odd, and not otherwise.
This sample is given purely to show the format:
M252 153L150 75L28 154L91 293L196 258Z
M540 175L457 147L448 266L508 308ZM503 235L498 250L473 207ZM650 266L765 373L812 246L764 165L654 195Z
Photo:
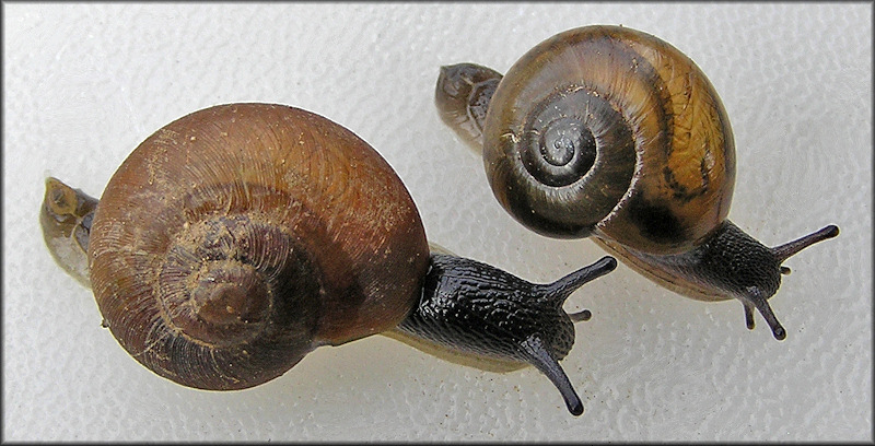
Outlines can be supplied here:
M574 326L548 287L486 263L432 255L422 301L399 329L451 349L527 362L535 334L557 360L574 344Z

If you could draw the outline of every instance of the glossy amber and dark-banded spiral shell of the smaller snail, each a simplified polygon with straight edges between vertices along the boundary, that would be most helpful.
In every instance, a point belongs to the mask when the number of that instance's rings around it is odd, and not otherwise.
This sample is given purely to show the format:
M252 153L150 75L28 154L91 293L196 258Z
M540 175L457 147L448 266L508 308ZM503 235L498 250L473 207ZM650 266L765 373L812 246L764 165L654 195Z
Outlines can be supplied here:
M497 198L541 234L669 254L728 213L723 105L688 57L649 34L586 26L542 42L500 82L483 131Z

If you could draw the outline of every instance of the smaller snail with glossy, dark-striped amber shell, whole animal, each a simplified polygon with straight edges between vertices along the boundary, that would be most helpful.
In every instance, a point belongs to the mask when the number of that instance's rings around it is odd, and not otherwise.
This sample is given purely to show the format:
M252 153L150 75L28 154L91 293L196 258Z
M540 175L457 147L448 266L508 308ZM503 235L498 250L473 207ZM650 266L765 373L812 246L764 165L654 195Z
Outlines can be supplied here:
M441 68L435 105L482 153L501 206L557 238L588 237L657 284L742 302L778 340L768 300L781 263L836 237L828 225L769 248L726 219L735 183L730 119L704 73L650 34L584 26L538 44L503 77Z

